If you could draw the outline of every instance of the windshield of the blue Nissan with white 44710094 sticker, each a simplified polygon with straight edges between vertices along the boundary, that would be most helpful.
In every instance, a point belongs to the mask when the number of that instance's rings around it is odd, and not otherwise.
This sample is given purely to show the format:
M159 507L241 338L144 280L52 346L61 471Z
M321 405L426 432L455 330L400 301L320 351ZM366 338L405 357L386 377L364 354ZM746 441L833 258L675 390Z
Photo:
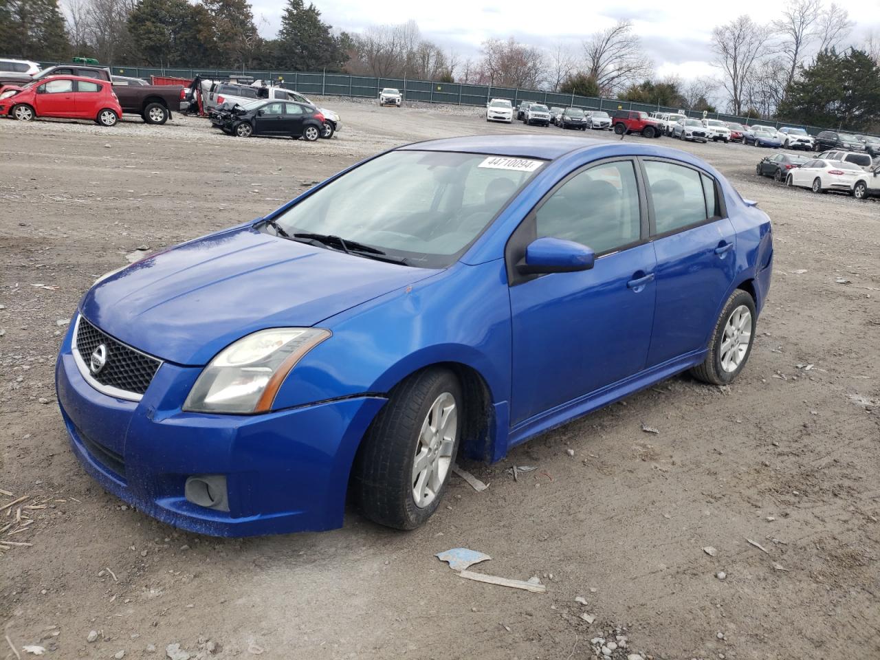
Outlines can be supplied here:
M544 161L448 151L373 158L275 217L290 236L333 234L445 268Z

